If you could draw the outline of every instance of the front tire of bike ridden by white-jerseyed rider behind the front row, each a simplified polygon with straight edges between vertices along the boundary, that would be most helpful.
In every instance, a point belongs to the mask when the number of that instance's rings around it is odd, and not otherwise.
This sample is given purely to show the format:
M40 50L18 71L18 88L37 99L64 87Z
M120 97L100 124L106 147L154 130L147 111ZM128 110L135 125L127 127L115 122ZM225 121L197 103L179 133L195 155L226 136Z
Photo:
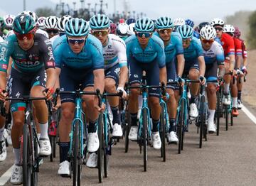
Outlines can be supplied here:
M104 141L104 136L103 136L103 130L102 130L102 113L99 116L98 119L98 127L97 127L97 134L99 137L99 141L100 141L100 146L98 148L97 151L97 168L98 168L98 178L99 178L99 182L102 182L103 180L103 170L104 170L104 165L103 164L103 156L104 156L104 149L103 149L103 141Z

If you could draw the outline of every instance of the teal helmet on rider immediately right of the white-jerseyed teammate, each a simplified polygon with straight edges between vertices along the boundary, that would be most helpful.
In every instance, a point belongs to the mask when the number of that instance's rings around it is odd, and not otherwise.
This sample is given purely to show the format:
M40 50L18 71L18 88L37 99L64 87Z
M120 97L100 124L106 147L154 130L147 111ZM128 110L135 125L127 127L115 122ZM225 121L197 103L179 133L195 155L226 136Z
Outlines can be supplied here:
M140 18L135 22L135 31L137 32L153 32L154 21L150 18Z

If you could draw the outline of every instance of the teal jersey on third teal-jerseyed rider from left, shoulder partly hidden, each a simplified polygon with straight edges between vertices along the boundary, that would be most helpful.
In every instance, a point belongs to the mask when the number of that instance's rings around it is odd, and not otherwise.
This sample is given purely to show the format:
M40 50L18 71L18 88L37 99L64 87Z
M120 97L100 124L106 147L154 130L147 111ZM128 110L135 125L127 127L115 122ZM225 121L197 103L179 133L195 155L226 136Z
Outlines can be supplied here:
M155 32L154 35L160 38L159 33ZM171 40L168 45L164 46L164 53L166 55L166 64L172 62L176 55L183 54L182 38L179 33L171 33Z

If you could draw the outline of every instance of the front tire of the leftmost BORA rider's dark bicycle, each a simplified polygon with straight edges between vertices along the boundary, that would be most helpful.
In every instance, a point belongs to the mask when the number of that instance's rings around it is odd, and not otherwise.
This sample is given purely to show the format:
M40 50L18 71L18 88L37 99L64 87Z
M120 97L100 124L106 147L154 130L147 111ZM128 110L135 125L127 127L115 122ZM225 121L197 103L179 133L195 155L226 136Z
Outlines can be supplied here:
M32 165L31 165L31 142L28 132L28 124L23 125L23 143L22 143L22 171L23 185L31 185Z

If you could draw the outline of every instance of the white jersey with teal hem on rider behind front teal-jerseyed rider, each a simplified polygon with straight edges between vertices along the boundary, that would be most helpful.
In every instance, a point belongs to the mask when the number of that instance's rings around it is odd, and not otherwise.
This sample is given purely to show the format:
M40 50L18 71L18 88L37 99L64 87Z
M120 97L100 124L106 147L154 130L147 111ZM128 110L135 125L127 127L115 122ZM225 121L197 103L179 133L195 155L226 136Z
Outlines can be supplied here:
M109 34L108 43L103 46L103 56L105 70L117 65L117 63L119 63L119 67L127 66L126 45L124 40L117 35Z

